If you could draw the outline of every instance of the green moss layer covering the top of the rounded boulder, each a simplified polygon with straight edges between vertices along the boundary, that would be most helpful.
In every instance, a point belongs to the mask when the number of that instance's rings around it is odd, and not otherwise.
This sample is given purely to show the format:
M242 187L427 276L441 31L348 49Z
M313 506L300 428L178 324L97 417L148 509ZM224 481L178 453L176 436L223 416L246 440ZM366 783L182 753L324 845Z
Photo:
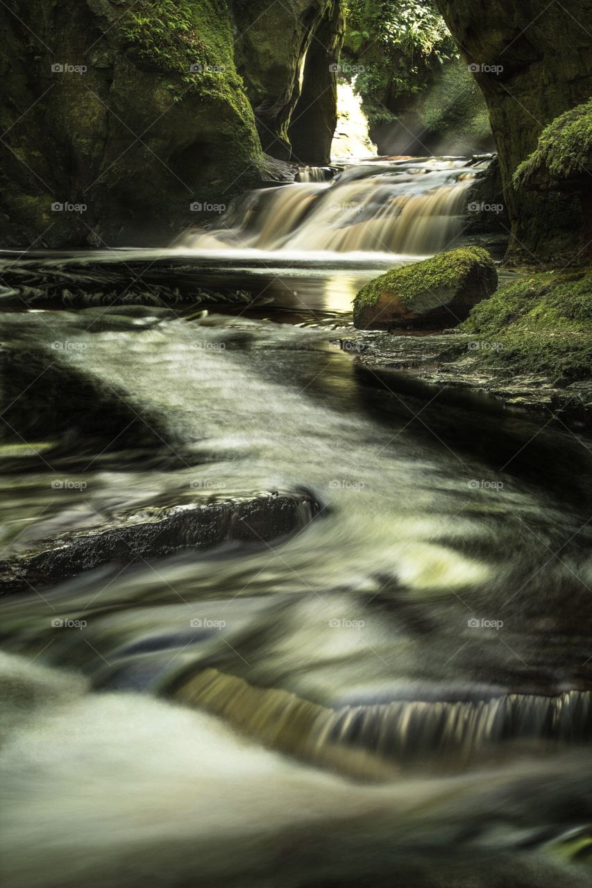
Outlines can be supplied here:
M422 262L392 268L361 289L354 301L354 322L363 309L375 305L385 291L396 293L404 305L435 290L456 289L459 281L475 266L493 268L492 258L482 247L459 247L439 253ZM491 290L490 290L491 292Z

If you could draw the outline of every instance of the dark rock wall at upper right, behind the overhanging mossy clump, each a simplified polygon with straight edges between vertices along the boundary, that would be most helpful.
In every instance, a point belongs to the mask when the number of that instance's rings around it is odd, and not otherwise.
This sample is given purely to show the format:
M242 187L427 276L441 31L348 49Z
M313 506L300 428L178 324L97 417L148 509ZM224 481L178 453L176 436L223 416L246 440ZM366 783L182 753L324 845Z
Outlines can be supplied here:
M580 250L577 199L514 188L511 179L544 127L592 93L592 0L569 9L535 0L436 3L489 107L512 223L508 260L571 260Z

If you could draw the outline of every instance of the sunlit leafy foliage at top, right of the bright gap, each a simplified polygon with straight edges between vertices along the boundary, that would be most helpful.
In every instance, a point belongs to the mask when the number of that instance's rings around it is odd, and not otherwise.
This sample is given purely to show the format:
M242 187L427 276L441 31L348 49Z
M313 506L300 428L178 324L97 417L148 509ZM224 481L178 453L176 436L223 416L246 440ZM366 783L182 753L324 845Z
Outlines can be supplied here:
M389 109L422 91L434 70L456 54L431 0L348 0L346 14L344 53L364 67L356 88L371 123L391 119Z

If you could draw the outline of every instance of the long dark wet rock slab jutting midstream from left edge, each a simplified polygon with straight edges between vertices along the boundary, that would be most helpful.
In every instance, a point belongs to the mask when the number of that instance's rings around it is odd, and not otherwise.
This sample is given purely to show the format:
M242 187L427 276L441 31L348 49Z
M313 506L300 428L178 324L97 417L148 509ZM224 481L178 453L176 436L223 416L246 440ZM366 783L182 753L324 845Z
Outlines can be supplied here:
M30 591L106 564L129 565L221 543L268 543L304 527L318 506L306 492L210 496L148 507L107 526L61 535L4 560L0 592Z

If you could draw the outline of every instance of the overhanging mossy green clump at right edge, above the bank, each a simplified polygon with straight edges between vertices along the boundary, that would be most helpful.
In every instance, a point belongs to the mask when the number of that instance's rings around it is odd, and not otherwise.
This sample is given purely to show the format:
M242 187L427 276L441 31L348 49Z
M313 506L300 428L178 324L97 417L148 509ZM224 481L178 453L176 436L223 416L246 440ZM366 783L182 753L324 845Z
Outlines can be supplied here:
M539 144L514 173L515 186L538 174L560 183L586 174L592 166L592 99L556 117L540 133Z

